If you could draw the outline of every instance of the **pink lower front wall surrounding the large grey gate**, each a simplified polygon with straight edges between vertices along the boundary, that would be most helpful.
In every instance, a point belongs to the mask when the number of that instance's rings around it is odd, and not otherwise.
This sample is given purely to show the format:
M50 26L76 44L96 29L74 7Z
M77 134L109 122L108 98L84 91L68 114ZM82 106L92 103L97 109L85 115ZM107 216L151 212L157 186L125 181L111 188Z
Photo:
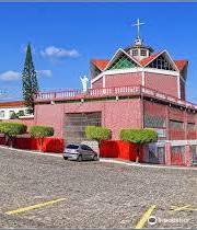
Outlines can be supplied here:
M113 139L118 139L120 128L141 127L140 99L36 105L35 123L55 128L55 136L63 136L66 113L102 112L102 125L113 130Z

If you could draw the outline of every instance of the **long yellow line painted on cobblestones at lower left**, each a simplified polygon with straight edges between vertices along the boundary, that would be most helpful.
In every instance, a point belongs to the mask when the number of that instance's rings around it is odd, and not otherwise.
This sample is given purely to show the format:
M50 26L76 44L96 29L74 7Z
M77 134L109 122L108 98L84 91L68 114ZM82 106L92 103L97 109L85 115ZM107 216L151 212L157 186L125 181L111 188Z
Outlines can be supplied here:
M53 200L49 200L49 202L39 203L37 205L32 205L32 206L28 206L28 207L24 207L24 208L19 208L19 209L15 209L15 210L7 211L5 214L7 215L21 214L21 212L25 212L25 211L33 210L33 209L36 209L36 208L42 208L42 207L45 207L47 205L53 205L55 203L62 202L66 198L53 199Z

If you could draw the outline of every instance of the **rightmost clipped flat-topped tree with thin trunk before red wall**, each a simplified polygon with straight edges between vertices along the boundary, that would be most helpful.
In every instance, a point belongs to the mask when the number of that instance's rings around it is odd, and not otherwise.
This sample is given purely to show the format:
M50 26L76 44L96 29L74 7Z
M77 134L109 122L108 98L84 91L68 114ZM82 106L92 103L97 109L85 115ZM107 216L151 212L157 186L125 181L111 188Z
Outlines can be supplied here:
M158 134L153 129L121 129L119 137L121 140L138 143L136 162L139 162L139 154L143 143L155 142Z

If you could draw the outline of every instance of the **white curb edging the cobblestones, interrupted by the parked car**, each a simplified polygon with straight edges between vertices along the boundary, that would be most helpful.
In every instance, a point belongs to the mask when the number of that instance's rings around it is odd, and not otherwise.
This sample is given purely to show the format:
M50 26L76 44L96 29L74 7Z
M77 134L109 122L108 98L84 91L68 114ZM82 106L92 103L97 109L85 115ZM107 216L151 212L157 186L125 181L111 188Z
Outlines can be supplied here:
M0 146L0 149L9 149L16 152L23 152L23 153L32 153L32 154L38 154L38 156L45 156L45 157L55 157L55 158L62 158L61 153L48 153L48 152L39 152L39 151L31 151L31 150L24 150L24 149L15 149L10 148L5 146ZM135 166L135 168L152 168L152 169L167 169L167 170L197 170L197 168L193 166L173 166L173 165L155 165L155 164L140 164L135 162L125 162L124 160L114 160L114 159L107 159L107 158L101 158L100 162L103 163L115 163L115 164L123 164L127 166Z

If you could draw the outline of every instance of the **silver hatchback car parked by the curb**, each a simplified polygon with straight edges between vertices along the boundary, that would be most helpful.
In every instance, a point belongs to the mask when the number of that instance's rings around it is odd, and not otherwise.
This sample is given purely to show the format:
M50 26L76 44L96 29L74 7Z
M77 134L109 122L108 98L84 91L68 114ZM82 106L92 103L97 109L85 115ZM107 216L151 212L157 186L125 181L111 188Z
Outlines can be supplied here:
M83 160L99 160L97 153L86 145L70 143L63 150L63 159L83 161Z

